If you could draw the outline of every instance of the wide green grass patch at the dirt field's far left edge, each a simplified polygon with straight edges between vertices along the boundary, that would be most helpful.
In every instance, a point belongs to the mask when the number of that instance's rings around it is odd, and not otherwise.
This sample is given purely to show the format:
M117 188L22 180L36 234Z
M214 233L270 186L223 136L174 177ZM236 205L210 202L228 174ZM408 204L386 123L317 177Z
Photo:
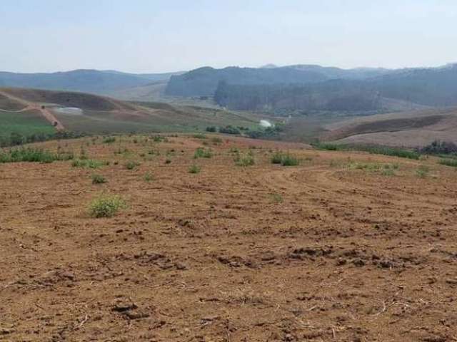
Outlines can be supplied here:
M74 158L71 152L50 152L35 148L14 148L0 152L0 163L3 162L54 162L56 160L71 160Z

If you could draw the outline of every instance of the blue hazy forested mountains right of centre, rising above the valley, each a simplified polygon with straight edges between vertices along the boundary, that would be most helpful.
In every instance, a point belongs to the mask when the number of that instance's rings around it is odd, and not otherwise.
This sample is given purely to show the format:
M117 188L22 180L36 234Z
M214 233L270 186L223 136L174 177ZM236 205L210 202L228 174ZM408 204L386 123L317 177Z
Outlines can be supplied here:
M199 68L171 76L174 96L213 96L234 110L398 110L457 105L457 64L439 68L265 66ZM398 107L398 104L401 106Z

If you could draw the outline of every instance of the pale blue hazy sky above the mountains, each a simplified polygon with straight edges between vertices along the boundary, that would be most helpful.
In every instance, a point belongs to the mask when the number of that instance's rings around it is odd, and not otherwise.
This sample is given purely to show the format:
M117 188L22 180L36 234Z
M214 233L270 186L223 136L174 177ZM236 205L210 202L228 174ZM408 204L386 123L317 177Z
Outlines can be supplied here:
M457 62L456 0L0 0L0 70Z

